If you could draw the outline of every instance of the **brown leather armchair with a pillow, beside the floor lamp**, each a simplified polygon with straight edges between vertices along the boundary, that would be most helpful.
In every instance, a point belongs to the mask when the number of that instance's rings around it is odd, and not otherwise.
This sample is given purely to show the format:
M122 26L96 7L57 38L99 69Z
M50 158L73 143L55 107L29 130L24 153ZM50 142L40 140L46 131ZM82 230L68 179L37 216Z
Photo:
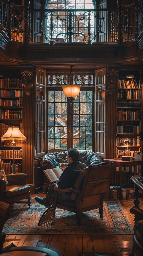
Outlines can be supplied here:
M0 160L2 170L2 161ZM27 203L30 207L30 186L26 185L27 175L24 173L6 175L9 185L4 179L0 179L0 201L10 204L13 213L14 203ZM28 201L20 201L27 198Z

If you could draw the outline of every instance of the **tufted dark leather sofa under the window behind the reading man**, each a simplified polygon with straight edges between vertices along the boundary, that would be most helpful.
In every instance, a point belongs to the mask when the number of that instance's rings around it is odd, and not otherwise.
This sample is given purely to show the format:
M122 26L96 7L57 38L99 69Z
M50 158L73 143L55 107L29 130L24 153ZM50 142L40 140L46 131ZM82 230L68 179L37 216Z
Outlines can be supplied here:
M43 155L41 160L41 166L43 169L52 169L58 168L59 163L67 163L66 156L68 151L60 151L60 152L53 152L47 153ZM88 165L101 165L103 163L103 159L94 153L93 151L86 151L86 150L79 150L79 161L81 163Z

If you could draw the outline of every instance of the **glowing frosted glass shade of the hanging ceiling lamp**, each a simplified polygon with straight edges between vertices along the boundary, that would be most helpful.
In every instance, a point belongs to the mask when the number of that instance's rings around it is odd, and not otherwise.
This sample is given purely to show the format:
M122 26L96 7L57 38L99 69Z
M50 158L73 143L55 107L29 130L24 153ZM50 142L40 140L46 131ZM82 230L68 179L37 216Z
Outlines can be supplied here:
M75 98L80 93L81 85L62 85L62 90L68 98Z

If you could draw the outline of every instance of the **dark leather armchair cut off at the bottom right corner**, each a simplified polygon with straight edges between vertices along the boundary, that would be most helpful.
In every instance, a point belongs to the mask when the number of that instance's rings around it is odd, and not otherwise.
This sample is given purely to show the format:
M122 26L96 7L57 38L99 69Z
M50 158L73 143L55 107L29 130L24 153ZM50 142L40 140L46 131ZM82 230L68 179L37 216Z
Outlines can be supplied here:
M133 236L133 248L131 256L142 256L143 255L143 210L133 206L130 212L135 214L136 219L139 221L135 222L134 225L134 236Z

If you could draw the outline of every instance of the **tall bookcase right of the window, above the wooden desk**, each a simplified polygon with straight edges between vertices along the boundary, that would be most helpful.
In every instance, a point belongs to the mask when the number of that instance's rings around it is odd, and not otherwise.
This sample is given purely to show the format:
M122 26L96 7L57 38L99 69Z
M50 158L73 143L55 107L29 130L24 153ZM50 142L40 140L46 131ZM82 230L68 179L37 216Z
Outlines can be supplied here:
M130 155L141 151L141 73L119 73L117 89L117 140L116 157L126 150L125 140L130 141Z

